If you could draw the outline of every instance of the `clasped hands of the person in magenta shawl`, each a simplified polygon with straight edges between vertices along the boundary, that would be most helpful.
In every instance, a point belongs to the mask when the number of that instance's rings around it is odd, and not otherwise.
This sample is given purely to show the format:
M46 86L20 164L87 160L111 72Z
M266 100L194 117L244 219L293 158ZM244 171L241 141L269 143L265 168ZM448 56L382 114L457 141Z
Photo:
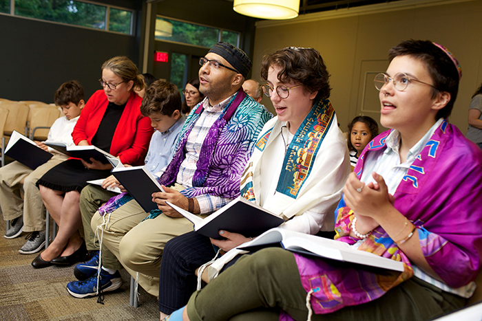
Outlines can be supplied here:
M372 173L375 183L362 183L357 179L355 173L351 173L346 180L343 188L343 199L357 217L357 230L359 233L366 234L377 228L377 219L393 208L395 197L388 193L388 187L384 178L377 173ZM360 192L358 189L362 189Z

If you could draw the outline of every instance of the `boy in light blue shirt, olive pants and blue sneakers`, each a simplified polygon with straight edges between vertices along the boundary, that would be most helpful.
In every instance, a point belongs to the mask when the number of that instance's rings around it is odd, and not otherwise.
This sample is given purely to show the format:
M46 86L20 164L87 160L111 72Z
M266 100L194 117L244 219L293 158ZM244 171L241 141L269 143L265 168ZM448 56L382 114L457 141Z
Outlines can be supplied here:
M151 126L156 129L149 144L145 167L156 176L163 173L174 155L175 142L185 121L180 112L181 103L178 88L169 82L157 80L145 91L140 112L151 118ZM103 188L112 186L118 186L118 181L113 176L107 177L103 181ZM95 233L92 231L90 221L98 208L110 197L116 195L103 188L89 185L81 192L82 223L87 250L90 250L90 261L75 267L74 274L79 281L73 281L67 285L69 293L76 298L96 295L99 252L98 246L94 244ZM102 291L113 291L121 286L121 275L118 273L121 267L116 256L103 246Z

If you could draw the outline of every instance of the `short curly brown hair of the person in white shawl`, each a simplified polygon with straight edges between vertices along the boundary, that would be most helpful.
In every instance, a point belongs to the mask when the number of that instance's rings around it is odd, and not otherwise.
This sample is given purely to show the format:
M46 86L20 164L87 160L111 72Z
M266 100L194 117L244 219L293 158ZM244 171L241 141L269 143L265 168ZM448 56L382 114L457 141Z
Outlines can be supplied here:
M280 67L277 79L281 82L301 82L309 92L318 91L315 100L330 97L330 74L322 55L313 48L287 47L263 57L261 78L268 80L269 67Z

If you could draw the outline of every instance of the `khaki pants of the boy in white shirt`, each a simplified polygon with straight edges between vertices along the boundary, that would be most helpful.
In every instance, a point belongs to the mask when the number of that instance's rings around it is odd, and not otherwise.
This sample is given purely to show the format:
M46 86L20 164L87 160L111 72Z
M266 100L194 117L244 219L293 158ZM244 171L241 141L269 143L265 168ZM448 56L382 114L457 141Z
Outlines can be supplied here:
M45 230L45 206L35 184L51 168L66 159L67 156L54 155L35 170L17 161L0 168L0 208L3 219L9 221L23 214L24 232Z

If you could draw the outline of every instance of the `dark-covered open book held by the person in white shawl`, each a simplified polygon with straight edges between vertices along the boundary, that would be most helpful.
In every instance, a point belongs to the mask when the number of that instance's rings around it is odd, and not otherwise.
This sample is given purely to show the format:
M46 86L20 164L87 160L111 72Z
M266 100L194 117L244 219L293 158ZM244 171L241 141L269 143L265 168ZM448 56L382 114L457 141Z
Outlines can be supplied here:
M244 199L244 197L234 199L205 219L201 219L174 204L166 203L191 221L196 232L213 239L222 239L219 234L220 230L254 237L284 222L281 217L264 210L261 206Z

